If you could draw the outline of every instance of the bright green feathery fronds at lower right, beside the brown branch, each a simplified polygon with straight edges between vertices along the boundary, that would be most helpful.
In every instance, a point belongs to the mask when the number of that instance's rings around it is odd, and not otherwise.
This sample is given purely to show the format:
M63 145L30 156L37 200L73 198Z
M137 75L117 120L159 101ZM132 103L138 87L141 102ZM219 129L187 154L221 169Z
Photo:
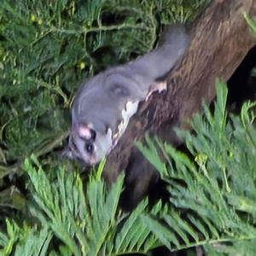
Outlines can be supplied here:
M169 183L172 205L183 212L170 209L162 216L165 227L179 237L177 249L224 241L252 243L253 247L256 238L256 131L250 111L255 104L244 104L240 117L227 119L226 85L217 81L216 88L214 112L204 105L205 114L196 113L191 121L195 135L177 131L194 161L157 138L146 137L147 147L137 143ZM166 154L167 167L157 160L155 145Z

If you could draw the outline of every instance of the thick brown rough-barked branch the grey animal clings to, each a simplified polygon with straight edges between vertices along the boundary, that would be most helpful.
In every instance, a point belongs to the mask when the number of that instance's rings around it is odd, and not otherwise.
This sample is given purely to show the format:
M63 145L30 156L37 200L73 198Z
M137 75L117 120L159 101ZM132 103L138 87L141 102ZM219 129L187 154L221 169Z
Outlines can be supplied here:
M249 32L243 12L256 15L256 0L212 1L191 26L191 43L187 55L175 71L167 76L168 91L143 102L136 116L108 156L103 176L113 183L121 170L131 169L130 181L135 181L134 194L146 193L155 176L134 148L146 131L172 143L172 125L188 128L186 119L201 110L201 100L207 104L216 96L215 79L230 79L256 39Z

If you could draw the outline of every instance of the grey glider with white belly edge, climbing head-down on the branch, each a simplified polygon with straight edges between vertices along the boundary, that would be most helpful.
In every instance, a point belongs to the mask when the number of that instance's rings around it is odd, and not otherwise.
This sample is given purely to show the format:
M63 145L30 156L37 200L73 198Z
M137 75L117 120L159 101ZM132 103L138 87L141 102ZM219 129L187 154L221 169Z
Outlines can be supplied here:
M168 26L160 47L84 81L72 106L66 155L89 166L108 155L137 112L139 102L147 101L156 90L166 90L166 82L156 80L172 70L188 47L184 26Z

